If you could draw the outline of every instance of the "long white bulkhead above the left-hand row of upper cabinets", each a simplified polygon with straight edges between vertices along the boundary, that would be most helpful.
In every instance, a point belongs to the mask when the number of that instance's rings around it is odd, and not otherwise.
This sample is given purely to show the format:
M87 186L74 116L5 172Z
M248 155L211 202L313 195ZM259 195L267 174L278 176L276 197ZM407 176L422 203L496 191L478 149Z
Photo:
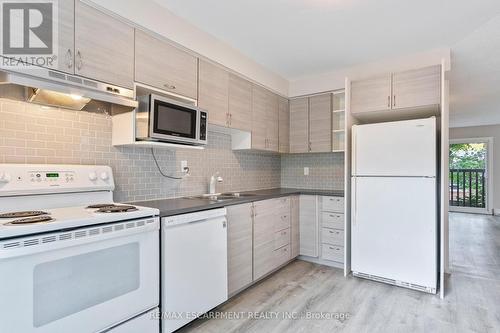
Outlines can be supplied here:
M101 10L112 12L130 23L151 30L207 57L274 92L288 96L288 81L264 66L198 29L151 0L84 0Z

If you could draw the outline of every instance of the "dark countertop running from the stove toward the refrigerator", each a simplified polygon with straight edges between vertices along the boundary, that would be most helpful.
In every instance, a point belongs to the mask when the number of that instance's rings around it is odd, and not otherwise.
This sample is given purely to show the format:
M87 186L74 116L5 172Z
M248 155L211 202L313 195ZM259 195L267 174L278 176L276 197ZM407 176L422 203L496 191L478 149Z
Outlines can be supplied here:
M306 190L306 189L295 189L295 188L274 188L268 190L244 191L239 193L253 194L253 195L229 199L229 200L223 200L223 201L210 201L206 199L195 199L195 198L185 197L185 198L131 202L131 204L144 207L157 208L160 210L160 216L163 217L163 216L186 214L186 213L198 212L201 210L232 206L259 200L279 198L293 194L325 195L325 196L335 196L335 197L344 196L343 190Z

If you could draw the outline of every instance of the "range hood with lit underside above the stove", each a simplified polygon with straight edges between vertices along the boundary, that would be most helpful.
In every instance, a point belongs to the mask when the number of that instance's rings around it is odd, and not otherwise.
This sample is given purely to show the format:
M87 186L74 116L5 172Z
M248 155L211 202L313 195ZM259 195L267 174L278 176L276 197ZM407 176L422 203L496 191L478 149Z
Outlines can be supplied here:
M135 109L132 89L41 67L0 70L0 97L72 110Z

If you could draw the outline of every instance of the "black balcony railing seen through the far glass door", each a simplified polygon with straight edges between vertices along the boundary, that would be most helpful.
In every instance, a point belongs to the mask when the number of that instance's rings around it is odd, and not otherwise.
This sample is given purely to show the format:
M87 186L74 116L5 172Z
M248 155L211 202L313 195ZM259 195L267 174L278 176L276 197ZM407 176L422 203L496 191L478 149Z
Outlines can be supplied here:
M485 176L485 169L450 169L450 206L485 208Z

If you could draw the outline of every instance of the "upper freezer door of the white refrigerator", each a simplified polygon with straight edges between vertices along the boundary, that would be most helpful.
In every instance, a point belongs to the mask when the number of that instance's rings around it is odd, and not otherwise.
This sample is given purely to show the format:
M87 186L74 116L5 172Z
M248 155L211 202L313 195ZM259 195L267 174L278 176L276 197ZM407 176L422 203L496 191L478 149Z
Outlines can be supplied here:
M436 118L353 126L353 176L435 176Z

